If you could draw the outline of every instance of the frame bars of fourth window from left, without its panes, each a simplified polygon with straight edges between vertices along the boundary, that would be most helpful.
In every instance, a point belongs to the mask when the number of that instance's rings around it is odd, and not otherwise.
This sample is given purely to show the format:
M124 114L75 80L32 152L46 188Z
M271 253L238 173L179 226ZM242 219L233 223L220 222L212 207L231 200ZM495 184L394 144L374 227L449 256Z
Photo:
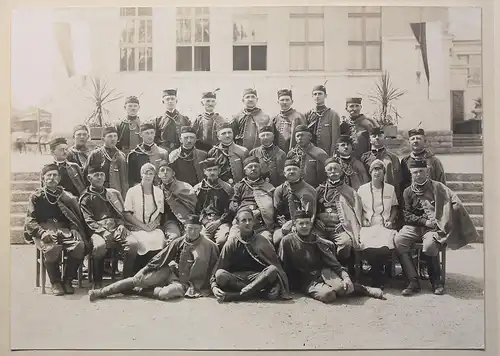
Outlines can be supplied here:
M318 6L316 7L318 8ZM302 12L290 12L289 14L289 25L292 18L295 19L303 19L305 22L305 41L292 41L288 42L288 46L291 49L292 47L300 47L304 49L304 69L292 69L291 67L291 53L288 55L288 66L290 72L324 72L325 71L325 13L324 7L320 6L322 12L313 12L310 7L302 8ZM317 10L317 9L316 9ZM292 11L296 11L295 9ZM320 18L323 20L323 41L309 41L309 19L312 18ZM290 27L288 28L290 31ZM323 68L322 69L310 69L310 61L309 61L309 47L319 47L323 48Z

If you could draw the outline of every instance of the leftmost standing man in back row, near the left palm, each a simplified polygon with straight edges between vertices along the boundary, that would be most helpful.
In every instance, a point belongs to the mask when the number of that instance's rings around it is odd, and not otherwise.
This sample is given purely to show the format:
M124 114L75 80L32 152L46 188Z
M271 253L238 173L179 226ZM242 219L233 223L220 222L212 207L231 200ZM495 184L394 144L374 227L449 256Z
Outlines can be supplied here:
M127 97L124 108L127 117L116 124L118 132L116 147L127 156L131 150L141 144L141 120L137 116L140 108L139 99L136 96Z

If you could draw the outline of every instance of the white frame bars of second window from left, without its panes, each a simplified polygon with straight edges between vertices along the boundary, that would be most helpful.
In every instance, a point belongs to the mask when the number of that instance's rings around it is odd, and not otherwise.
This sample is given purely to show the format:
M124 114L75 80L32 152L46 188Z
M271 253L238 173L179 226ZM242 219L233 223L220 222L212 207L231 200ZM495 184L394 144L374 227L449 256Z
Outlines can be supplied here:
M205 9L206 12L203 13L197 13L196 9L201 8ZM189 9L189 15L186 14L179 14L179 9ZM210 26L210 8L209 7L184 7L184 6L178 6L175 8L175 72L179 73L186 73L186 72L210 72L212 70L212 48L211 48L211 26ZM190 21L190 43L183 43L179 42L179 38L177 37L177 26L179 23L179 20L189 20ZM207 20L208 22L208 36L209 40L208 41L197 41L196 40L196 20ZM190 47L191 48L191 69L190 70L179 70L177 67L177 50L179 47ZM196 64L196 49L195 48L200 48L200 47L208 47L208 52L209 52L209 60L208 60L208 70L197 70L195 67Z

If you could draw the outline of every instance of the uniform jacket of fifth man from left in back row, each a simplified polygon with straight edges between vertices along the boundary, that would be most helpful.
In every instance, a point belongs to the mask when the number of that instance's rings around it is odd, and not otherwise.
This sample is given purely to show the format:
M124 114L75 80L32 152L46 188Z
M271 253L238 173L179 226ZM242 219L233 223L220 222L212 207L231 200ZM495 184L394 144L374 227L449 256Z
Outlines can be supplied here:
M295 109L284 113L280 112L272 120L275 144L285 153L295 147L295 127L297 125L307 125L307 120L304 114Z

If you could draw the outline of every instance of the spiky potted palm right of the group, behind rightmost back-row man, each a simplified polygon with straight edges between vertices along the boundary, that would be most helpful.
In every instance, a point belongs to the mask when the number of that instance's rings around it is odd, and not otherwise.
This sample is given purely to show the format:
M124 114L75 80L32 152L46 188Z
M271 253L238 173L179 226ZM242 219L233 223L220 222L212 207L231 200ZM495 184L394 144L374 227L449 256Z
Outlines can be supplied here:
M389 73L384 72L375 83L375 89L368 95L370 102L376 105L373 118L383 128L387 137L397 137L397 125L402 117L394 102L405 94L406 91L393 86Z

